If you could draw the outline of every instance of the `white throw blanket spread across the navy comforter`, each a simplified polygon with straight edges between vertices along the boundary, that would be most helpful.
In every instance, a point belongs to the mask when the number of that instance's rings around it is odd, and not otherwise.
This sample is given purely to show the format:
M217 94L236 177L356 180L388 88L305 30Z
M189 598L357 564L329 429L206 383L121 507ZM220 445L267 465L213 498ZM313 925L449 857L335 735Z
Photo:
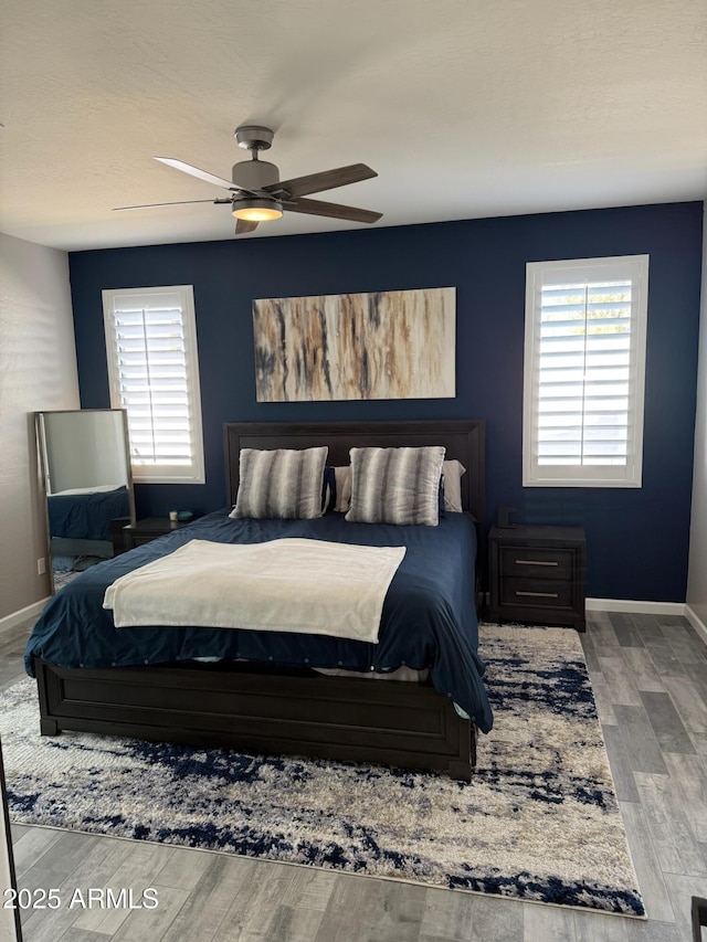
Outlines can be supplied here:
M116 627L194 625L378 642L404 547L191 540L106 590Z

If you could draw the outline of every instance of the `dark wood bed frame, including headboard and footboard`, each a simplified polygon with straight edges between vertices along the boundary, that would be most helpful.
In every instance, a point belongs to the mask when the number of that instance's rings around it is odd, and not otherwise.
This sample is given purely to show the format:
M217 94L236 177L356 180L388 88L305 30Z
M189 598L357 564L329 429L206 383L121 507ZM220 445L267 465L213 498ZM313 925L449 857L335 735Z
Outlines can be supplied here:
M328 445L328 464L357 446L444 445L467 468L462 501L484 520L482 420L447 422L243 423L224 425L229 502L239 453ZM479 540L479 548L484 540ZM328 677L261 665L68 669L39 658L41 732L82 730L246 752L432 769L468 781L476 729L432 686Z

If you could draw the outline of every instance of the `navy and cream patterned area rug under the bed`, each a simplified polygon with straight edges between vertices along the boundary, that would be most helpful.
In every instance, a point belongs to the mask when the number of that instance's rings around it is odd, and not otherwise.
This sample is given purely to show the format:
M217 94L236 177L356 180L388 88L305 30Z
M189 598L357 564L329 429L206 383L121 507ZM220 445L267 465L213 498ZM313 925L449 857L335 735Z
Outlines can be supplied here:
M471 784L88 733L0 703L11 818L643 915L577 634L484 626L495 726Z

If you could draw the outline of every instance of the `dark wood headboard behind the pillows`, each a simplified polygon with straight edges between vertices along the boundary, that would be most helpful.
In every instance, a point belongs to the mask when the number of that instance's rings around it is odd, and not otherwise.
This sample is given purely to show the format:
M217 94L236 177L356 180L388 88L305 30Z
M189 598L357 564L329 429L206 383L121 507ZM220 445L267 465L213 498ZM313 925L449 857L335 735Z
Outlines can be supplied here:
M421 422L241 422L223 426L226 493L235 504L241 448L312 448L328 445L327 464L348 465L349 448L444 445L447 461L466 468L462 507L484 526L486 443L483 419Z

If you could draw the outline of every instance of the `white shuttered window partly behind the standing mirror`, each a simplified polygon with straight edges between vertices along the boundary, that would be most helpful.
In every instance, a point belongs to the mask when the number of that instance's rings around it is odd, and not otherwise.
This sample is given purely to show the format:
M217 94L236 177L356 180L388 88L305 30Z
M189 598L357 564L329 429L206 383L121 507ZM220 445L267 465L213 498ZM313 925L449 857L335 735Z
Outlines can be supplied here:
M133 478L203 484L193 289L103 292L110 404L126 409Z

